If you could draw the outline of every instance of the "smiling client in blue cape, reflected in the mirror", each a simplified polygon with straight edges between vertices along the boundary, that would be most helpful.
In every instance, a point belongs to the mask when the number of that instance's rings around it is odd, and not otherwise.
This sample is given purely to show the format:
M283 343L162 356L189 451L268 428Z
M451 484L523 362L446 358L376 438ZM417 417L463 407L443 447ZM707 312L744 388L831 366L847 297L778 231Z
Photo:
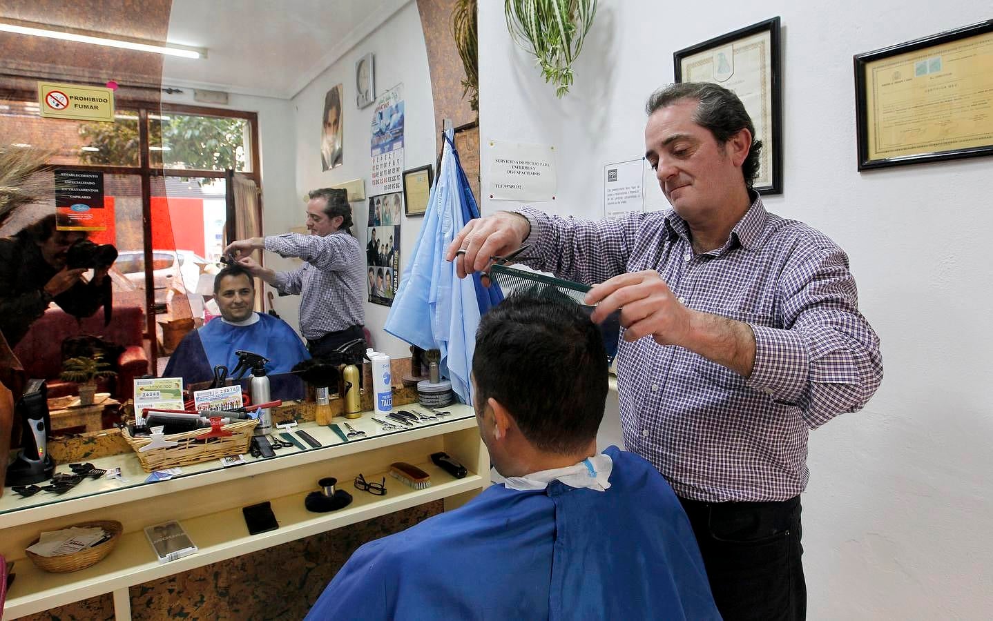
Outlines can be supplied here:
M238 364L234 352L239 349L268 358L265 369L270 375L288 373L298 362L310 358L289 323L252 311L255 287L243 268L220 270L213 279L213 297L220 316L183 337L166 365L165 377L182 377L185 384L210 381L217 365L234 370Z

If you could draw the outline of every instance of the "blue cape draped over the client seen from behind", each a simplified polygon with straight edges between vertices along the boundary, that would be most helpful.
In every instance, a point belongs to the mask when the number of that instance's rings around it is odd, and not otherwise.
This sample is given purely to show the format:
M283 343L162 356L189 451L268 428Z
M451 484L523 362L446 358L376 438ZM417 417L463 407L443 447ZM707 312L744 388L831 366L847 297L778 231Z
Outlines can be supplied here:
M607 491L493 485L365 544L307 619L720 619L668 483L634 453L604 452Z

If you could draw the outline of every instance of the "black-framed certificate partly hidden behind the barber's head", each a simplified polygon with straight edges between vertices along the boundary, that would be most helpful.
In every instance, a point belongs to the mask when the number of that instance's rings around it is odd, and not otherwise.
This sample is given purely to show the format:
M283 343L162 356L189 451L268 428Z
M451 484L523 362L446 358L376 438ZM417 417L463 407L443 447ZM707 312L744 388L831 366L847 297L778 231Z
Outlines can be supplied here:
M782 193L780 18L759 22L672 55L677 82L716 82L734 91L762 141L755 189Z

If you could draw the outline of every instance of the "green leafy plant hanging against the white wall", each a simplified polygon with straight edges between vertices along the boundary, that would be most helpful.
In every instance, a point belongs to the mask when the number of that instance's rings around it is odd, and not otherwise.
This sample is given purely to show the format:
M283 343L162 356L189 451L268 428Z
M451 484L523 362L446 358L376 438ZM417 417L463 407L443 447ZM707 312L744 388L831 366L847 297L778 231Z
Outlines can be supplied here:
M506 28L514 43L533 54L559 97L572 86L572 62L593 26L597 0L504 0Z

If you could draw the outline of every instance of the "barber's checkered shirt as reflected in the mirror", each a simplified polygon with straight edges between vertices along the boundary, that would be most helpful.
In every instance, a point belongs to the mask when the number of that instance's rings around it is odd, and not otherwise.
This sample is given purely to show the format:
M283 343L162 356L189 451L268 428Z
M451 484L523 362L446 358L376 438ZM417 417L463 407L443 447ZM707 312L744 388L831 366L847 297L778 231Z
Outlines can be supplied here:
M265 249L281 257L299 257L303 267L276 272L280 296L300 295L300 331L317 340L365 324L365 257L358 240L339 230L321 237L286 233L265 238Z

